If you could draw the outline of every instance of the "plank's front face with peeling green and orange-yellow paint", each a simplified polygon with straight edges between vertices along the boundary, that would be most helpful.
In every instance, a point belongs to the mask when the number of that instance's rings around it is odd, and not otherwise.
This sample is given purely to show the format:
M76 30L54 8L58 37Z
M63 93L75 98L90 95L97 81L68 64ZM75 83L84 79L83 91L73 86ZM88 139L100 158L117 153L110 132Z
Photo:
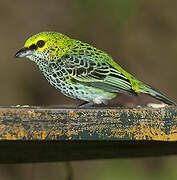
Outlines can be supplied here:
M0 140L177 141L177 109L1 107Z

